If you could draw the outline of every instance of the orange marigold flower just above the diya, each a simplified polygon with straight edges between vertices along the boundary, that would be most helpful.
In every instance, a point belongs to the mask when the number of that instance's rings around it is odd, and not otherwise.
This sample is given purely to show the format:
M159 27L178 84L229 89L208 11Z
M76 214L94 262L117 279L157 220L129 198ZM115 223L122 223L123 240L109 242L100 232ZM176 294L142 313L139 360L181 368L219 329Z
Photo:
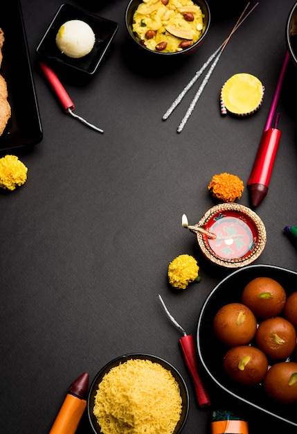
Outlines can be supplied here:
M235 200L242 197L244 183L237 175L221 173L213 176L213 179L208 184L208 190L213 194L214 198L223 202L235 202Z

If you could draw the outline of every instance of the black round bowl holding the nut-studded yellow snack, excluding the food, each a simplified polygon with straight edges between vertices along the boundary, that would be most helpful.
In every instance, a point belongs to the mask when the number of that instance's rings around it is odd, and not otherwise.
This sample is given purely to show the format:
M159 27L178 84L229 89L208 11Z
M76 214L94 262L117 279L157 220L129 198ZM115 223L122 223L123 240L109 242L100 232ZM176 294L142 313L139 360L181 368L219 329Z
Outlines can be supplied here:
M134 35L133 28L132 28L133 16L134 16L136 9L138 8L138 5L140 3L142 3L142 1L143 0L130 0L129 1L127 8L126 8L126 11L125 11L125 23L126 23L127 31L129 33L129 35L132 37L132 40L143 51L147 51L147 52L152 53L154 55L159 55L160 57L176 58L176 57L181 57L181 56L185 56L185 55L189 55L191 53L194 53L194 51L196 51L197 48L202 44L202 42L204 41L204 39L206 37L206 33L208 33L208 29L210 27L210 8L209 8L206 0L193 0L193 2L195 4L200 6L201 11L204 14L204 28L202 29L201 37L199 38L199 40L197 40L197 42L195 42L195 44L192 44L187 49L183 49L182 51L177 51L175 53L162 53L161 51L153 51L153 50L147 49L146 46L144 46L143 44L141 44L141 42L139 42L137 40L136 36Z

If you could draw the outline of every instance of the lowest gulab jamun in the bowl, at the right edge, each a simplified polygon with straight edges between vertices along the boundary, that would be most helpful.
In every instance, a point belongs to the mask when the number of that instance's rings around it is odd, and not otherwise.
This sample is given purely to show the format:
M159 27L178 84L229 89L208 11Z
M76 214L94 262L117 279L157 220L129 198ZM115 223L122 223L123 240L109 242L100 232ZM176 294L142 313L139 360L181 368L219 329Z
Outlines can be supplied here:
M264 378L264 390L281 403L297 402L297 363L279 362L272 365Z

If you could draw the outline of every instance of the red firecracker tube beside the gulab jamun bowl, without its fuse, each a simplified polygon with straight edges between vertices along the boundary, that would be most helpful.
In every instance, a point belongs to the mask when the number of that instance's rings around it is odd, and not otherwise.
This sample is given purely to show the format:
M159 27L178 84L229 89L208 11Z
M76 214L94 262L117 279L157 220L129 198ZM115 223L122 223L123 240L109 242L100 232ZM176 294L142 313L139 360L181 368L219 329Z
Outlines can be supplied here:
M201 377L198 372L197 354L194 338L192 337L192 335L183 336L179 339L179 342L181 343L181 349L183 350L183 357L185 358L186 365L188 366L188 370L190 371L190 374L192 375L192 379L194 381L199 406L210 406L210 399L208 397L208 393L204 388L204 384L202 383Z

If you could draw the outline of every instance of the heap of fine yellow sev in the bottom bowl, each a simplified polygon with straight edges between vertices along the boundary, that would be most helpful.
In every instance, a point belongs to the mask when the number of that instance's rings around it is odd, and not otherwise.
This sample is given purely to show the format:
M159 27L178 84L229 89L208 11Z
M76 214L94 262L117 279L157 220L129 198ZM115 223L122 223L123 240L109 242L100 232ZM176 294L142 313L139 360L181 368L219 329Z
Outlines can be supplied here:
M104 434L172 434L181 417L179 385L159 363L130 359L105 374L93 414Z

